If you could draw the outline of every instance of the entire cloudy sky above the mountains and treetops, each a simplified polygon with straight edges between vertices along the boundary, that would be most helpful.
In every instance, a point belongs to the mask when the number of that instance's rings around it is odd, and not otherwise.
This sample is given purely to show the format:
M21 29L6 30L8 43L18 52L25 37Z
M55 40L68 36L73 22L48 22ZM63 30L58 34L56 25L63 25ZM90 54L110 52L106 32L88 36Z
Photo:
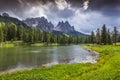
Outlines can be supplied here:
M120 0L0 0L0 13L20 20L45 17L54 26L69 21L77 31L90 33L103 24L120 28Z

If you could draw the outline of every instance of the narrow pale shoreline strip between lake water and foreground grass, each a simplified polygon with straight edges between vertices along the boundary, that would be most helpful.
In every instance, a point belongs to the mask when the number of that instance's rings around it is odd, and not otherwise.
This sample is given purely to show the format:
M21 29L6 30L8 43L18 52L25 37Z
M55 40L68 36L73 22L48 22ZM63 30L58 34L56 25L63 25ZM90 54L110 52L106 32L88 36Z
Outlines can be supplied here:
M40 46L42 47L42 46ZM82 47L83 48L83 47ZM85 49L85 48L83 48ZM90 52L91 54L93 54L93 56L96 56L94 61L91 60L86 60L86 61L81 61L81 62L76 62L76 63L66 63L66 59L63 60L62 62L58 62L58 63L46 63L46 64L42 64L39 67L31 67L31 68L15 68L15 69L10 69L10 70L6 70L6 71L1 71L0 75L4 75L4 74L11 74L11 73L15 73L15 72L19 72L19 71L26 71L26 70L32 70L32 69L36 69L36 68L47 68L47 67L52 67L54 65L62 65L62 64L87 64L87 63L91 63L91 64L95 64L98 62L99 59L99 53L90 49L85 49L86 51Z

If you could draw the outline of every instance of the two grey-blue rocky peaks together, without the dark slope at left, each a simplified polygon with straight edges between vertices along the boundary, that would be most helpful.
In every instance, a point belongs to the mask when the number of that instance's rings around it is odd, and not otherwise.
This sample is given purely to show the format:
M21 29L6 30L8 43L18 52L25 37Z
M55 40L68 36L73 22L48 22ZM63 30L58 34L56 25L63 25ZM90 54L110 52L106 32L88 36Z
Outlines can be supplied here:
M23 22L28 26L41 29L45 32L51 32L55 35L67 34L72 36L86 36L86 34L76 31L74 26L71 26L68 21L58 22L56 27L44 17L27 18L23 20Z

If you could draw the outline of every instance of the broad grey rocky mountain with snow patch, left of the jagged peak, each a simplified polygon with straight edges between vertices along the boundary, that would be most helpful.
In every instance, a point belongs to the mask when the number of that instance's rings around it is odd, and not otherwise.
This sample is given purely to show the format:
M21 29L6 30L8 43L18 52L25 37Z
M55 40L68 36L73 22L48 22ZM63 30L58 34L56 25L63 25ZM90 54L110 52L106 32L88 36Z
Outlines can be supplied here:
M28 26L41 29L42 31L45 31L45 32L51 32L54 28L54 25L51 22L48 22L48 20L44 17L27 18L26 20L23 20L23 22Z

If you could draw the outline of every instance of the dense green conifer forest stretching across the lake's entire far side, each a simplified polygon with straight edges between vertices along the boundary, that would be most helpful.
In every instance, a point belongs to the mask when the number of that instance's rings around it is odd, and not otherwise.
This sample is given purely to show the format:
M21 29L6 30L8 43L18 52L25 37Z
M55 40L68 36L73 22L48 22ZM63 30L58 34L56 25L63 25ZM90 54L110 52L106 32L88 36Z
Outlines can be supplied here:
M70 36L67 34L55 35L50 32L43 32L34 27L24 28L23 25L17 26L14 23L0 23L0 43L6 41L23 41L24 43L59 43L59 44L79 44L79 43L97 43L112 44L120 41L118 30L110 32L103 25L102 29L92 31L89 36Z

